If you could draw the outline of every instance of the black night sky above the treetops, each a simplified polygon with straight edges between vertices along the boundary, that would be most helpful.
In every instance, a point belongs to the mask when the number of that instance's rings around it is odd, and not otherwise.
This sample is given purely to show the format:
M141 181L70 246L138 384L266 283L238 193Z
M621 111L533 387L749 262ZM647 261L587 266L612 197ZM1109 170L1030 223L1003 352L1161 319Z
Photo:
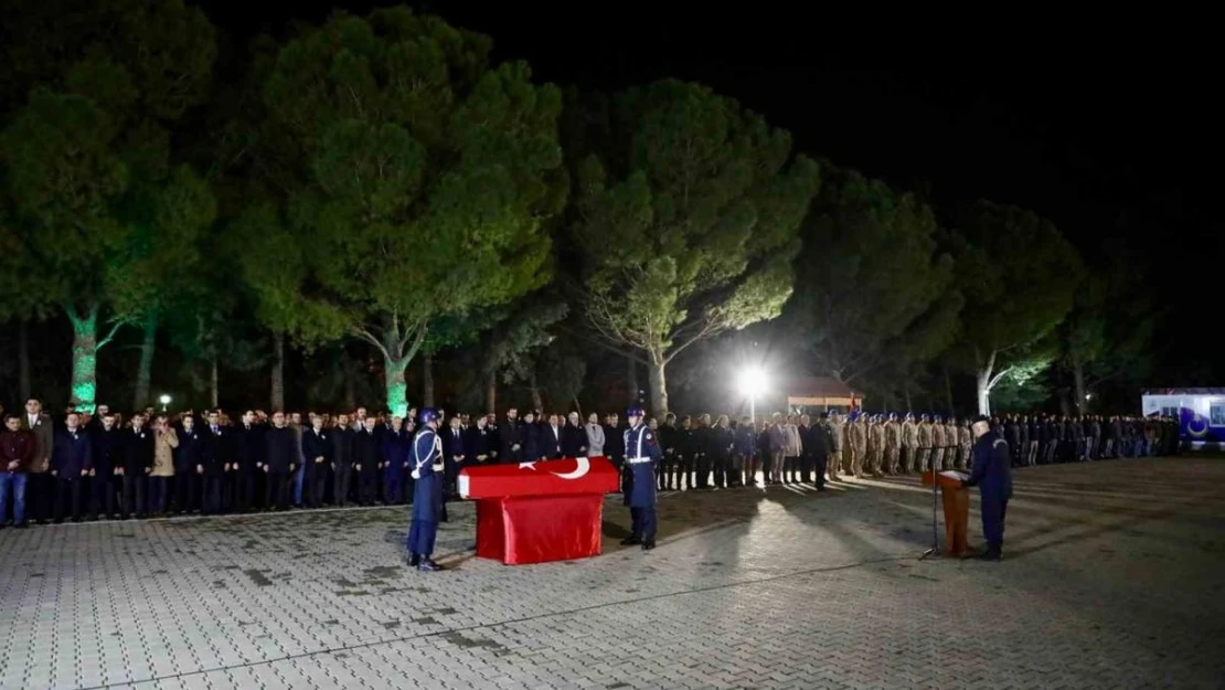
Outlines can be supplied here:
M372 5L339 4L355 13ZM318 22L333 2L262 5L258 13L251 5L203 5L224 29L249 36L278 33L290 17ZM926 189L944 211L978 197L1033 208L1090 262L1106 240L1126 240L1171 309L1158 343L1165 380L1154 384L1225 381L1218 363L1225 358L1203 335L1218 314L1213 271L1225 243L1208 195L1219 189L1225 146L1220 109L1210 104L1216 89L1208 86L1215 59L1187 48L1193 37L1176 50L1122 36L1067 45L1027 36L993 47L996 37L979 36L979 44L962 47L918 31L922 42L854 36L828 18L747 15L744 5L723 18L662 10L664 2L598 5L603 15L570 5L424 7L492 36L497 59L527 59L540 78L560 85L701 81L790 130L799 150ZM935 53L948 56L927 58Z

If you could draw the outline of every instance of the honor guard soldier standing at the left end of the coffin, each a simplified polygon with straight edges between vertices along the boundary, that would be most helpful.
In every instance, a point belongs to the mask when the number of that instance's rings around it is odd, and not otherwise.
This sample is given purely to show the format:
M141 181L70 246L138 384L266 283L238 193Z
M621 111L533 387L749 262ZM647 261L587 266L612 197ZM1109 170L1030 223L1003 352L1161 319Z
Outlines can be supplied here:
M442 570L434 563L434 538L442 520L442 441L437 435L439 413L421 411L421 427L413 439L413 522L408 529L408 565L420 571Z

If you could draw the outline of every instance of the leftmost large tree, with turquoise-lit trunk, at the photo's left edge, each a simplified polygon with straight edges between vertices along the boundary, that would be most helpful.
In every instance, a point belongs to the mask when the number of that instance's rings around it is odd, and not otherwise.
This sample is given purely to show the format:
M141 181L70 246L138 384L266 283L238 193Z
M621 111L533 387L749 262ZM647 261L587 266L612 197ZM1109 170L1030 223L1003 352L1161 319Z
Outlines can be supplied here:
M34 4L17 17L47 20ZM0 135L0 157L16 241L34 267L27 289L71 321L71 397L92 409L98 351L125 322L152 320L156 332L158 288L190 279L170 266L186 256L173 240L211 219L209 191L175 164L169 130L207 93L214 33L178 0L108 0L58 20L6 47L10 86L40 86ZM43 53L51 59L33 58Z

